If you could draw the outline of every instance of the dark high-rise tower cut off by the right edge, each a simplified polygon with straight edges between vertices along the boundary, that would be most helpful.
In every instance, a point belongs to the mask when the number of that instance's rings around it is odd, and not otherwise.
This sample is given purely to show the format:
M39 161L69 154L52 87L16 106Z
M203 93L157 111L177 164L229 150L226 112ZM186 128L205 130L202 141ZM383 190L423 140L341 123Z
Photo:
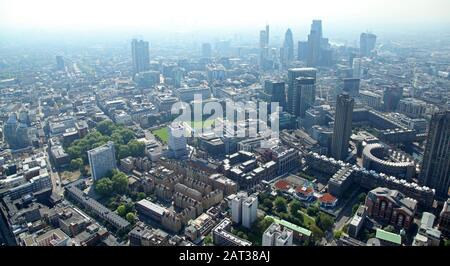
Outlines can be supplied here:
M447 199L450 186L450 110L433 114L428 130L419 182Z

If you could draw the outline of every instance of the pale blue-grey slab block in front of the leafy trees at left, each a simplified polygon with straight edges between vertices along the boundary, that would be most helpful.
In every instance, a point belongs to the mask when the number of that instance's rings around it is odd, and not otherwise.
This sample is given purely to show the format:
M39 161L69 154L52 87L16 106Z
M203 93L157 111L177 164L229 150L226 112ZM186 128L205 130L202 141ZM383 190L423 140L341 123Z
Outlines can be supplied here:
M88 151L92 178L97 181L116 169L116 151L112 141Z

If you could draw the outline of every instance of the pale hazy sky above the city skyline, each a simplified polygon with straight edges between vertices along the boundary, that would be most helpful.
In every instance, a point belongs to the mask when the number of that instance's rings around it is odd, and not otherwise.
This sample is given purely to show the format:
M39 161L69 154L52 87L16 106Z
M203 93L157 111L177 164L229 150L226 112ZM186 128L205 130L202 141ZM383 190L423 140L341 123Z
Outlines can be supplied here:
M211 29L310 23L449 24L450 0L0 0L10 29Z

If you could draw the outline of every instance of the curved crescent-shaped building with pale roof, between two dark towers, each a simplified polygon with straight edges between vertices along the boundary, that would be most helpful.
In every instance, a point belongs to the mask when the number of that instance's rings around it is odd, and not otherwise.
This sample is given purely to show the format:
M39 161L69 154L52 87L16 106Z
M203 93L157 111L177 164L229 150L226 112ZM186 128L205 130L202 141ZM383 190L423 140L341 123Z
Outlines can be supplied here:
M414 177L416 166L402 154L388 150L383 144L367 144L362 152L363 166L385 174L405 179Z

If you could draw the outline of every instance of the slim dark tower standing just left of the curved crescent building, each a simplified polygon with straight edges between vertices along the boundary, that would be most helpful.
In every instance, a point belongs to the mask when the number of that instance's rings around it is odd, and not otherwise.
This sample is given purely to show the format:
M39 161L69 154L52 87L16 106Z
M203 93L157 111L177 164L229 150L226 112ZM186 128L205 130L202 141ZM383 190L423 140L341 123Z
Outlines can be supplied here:
M336 160L345 160L348 155L354 102L353 98L348 94L340 94L336 100L334 129L331 140L331 157Z

